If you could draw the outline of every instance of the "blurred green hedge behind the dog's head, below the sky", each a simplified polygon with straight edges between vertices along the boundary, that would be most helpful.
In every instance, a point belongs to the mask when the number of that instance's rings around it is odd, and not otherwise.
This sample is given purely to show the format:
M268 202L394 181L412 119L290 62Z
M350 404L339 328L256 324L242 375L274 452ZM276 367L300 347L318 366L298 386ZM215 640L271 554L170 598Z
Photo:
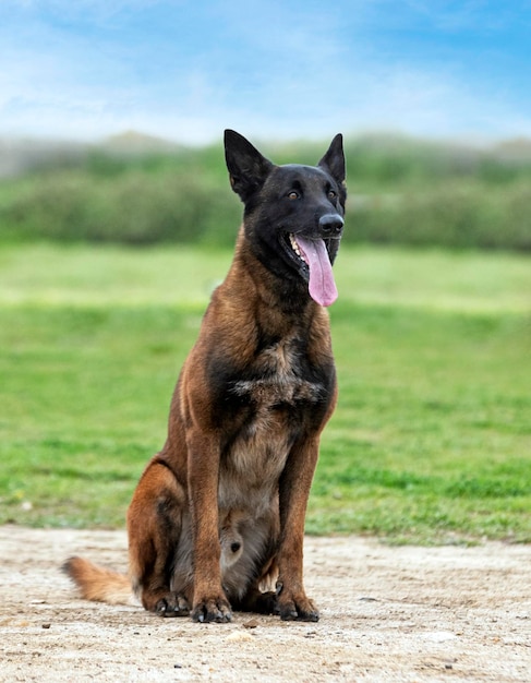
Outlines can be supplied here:
M327 143L258 144L315 164ZM231 245L242 206L221 146L43 155L0 182L0 241ZM531 143L481 151L400 136L347 139L346 241L531 250ZM67 160L64 160L67 159Z

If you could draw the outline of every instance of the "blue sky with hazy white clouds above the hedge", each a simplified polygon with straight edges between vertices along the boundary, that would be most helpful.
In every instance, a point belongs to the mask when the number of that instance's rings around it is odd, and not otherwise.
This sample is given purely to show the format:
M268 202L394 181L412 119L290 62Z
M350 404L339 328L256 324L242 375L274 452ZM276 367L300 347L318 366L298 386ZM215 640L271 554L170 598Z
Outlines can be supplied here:
M0 0L0 136L531 136L531 0Z

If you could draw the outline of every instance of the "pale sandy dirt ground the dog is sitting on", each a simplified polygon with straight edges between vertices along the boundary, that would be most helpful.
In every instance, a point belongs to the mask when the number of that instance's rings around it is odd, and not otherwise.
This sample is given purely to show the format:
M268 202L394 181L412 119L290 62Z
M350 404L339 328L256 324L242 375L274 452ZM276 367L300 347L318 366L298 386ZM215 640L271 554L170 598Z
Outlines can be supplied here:
M85 602L71 554L124 570L125 534L0 527L0 681L531 681L529 546L307 538L311 624Z

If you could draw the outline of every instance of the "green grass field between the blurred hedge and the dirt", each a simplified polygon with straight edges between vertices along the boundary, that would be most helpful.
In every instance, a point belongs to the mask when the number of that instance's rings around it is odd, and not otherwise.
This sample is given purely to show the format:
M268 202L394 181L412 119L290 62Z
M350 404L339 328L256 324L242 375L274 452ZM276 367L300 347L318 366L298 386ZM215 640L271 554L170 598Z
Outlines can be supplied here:
M230 252L0 250L0 523L122 526ZM531 542L531 267L347 248L312 534Z

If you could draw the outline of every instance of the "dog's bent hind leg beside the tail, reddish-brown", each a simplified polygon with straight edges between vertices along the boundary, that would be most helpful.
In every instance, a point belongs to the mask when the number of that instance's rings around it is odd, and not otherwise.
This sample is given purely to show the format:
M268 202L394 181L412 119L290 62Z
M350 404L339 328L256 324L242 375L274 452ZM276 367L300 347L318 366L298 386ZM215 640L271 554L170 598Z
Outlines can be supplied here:
M129 566L133 590L142 604L161 616L190 613L190 552L184 552L181 566L176 566L179 544L188 544L182 534L185 507L184 490L173 472L154 458L128 511ZM183 566L186 561L188 566Z

